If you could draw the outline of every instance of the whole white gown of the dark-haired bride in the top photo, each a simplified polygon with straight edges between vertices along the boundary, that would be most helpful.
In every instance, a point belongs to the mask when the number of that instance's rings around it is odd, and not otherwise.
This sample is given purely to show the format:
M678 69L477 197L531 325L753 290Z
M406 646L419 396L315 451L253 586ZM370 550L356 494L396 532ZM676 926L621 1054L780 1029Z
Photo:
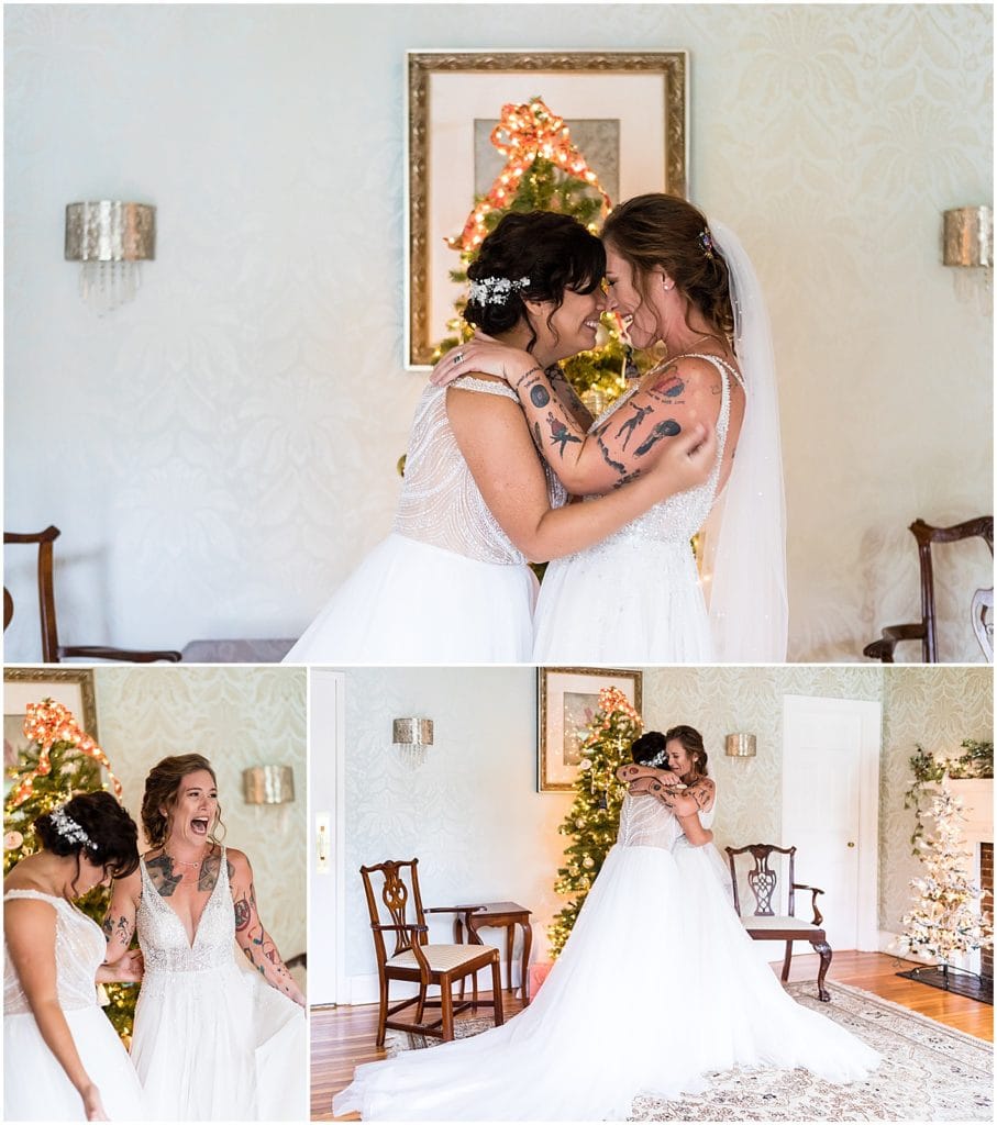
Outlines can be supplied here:
M519 402L503 384L462 390ZM566 500L547 470L554 506ZM488 511L447 418L423 392L395 526L336 591L285 662L484 664L530 659L537 579Z

